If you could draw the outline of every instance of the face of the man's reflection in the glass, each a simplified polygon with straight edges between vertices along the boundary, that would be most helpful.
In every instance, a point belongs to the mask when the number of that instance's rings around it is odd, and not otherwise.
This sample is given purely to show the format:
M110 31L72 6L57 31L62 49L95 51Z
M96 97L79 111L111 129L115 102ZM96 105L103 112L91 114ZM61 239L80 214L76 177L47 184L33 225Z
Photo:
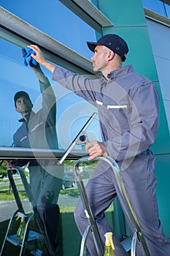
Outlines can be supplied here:
M26 97L19 97L18 100L16 101L16 110L18 113L21 114L27 114L31 112L32 109L32 103L29 99Z

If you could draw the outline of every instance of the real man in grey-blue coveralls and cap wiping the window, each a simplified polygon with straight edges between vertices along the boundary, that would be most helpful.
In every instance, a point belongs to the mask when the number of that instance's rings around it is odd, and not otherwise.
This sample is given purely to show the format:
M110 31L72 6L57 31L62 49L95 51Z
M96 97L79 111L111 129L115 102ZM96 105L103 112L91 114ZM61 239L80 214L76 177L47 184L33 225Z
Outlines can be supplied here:
M91 141L86 144L89 159L104 155L115 159L150 255L170 256L170 243L163 235L158 219L155 158L149 149L158 132L158 92L152 82L136 74L131 65L122 67L128 53L125 40L116 34L107 34L98 42L88 42L88 48L94 52L91 58L93 70L102 73L102 77L95 80L55 67L45 60L36 45L30 45L29 48L36 52L36 56L31 56L53 72L53 80L96 105L102 142ZM104 234L112 232L104 211L116 196L134 233L111 168L99 162L93 177L88 181L86 192L103 244ZM83 234L88 220L81 200L77 203L74 217ZM113 241L115 255L127 255L115 235ZM90 255L96 256L91 236L88 237L87 246ZM140 247L137 255L143 255Z

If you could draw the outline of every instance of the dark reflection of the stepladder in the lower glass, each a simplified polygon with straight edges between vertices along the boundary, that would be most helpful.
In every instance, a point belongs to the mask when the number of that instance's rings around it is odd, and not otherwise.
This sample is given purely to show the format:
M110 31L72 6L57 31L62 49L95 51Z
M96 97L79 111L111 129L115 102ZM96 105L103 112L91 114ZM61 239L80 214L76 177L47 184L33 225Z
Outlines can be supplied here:
M23 235L23 240L18 241L18 238L17 238L18 228L16 228L15 220L18 217L18 213L23 213L25 215L26 215L26 213L23 209L23 205L21 203L21 200L20 200L20 197L19 197L19 194L18 194L18 189L16 187L16 184L15 184L15 181L14 181L14 178L13 178L13 172L14 171L18 171L18 173L20 174L20 178L23 182L23 187L26 190L26 195L28 197L29 203L31 203L32 207L35 206L34 198L31 194L31 189L28 185L28 181L27 181L26 176L23 172L23 168L21 168L21 167L14 167L13 168L12 167L11 169L7 170L7 175L8 175L8 178L9 178L10 185L12 187L12 192L15 196L15 201L17 203L18 210L15 211L12 214L12 217L9 220L9 225L7 227L7 233L5 235L4 242L3 242L2 247L1 247L0 256L4 255L4 249L5 249L5 246L6 246L7 242L9 242L10 244L13 244L14 246L20 246L20 254L19 254L20 256L25 255L26 247L29 249L29 251L32 255L40 256L40 255L42 255L42 251L40 249L35 248L35 244L36 244L36 241L39 241L39 240L43 239L42 234L37 233L35 230L31 230L29 228L29 225L30 225L31 221L34 218L34 214L31 214L30 217L26 217L26 229L25 229L25 233Z

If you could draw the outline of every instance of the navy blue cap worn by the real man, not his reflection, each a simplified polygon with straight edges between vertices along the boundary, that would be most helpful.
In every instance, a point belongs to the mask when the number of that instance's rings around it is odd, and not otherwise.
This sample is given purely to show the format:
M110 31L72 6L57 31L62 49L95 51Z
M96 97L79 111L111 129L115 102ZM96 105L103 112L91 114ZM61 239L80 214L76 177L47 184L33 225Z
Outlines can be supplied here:
M110 50L117 53L121 57L122 61L125 61L125 56L128 53L128 45L122 37L117 34L105 34L103 37L98 39L97 42L87 42L88 48L95 51L96 45L104 45Z

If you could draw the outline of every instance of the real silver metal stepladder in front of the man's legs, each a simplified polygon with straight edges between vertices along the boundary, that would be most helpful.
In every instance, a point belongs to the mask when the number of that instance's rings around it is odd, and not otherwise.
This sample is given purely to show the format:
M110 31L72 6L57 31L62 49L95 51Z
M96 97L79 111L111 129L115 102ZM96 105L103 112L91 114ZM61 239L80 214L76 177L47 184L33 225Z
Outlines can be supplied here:
M131 256L136 255L136 244L137 244L137 242L142 247L144 255L150 256L150 252L147 248L147 244L144 240L144 236L142 235L142 230L141 230L141 227L139 225L139 221L136 217L136 214L134 213L133 206L131 205L131 201L128 197L128 193L126 192L126 189L125 189L125 186L124 186L124 183L123 183L123 178L120 174L119 167L117 166L115 160L113 160L111 157L96 157L96 159L94 159L94 160L103 160L110 167L112 167L112 171L113 171L113 173L115 175L115 178L116 178L116 181L117 181L117 186L120 189L120 194L123 198L123 202L124 202L125 207L128 211L128 215L131 219L131 223L134 227L134 236L133 236L132 242L131 242ZM85 214L86 214L86 217L88 218L88 223L89 223L88 227L85 230L85 233L82 236L80 256L85 255L85 244L86 244L86 241L87 241L87 238L88 238L88 234L90 232L92 233L93 241L94 241L94 244L96 246L96 251L98 252L98 256L102 256L103 245L101 244L101 240L100 240L99 235L98 235L98 229L97 229L97 226L96 226L96 222L93 218L93 214L92 214L90 205L88 203L88 197L87 197L87 194L85 192L85 187L84 187L82 177L81 177L80 171L79 171L80 162L88 162L88 161L89 161L88 157L85 157L85 158L77 160L74 164L74 174L75 174L76 181L77 181L77 187L79 189L80 197L82 199L82 204L85 208Z

